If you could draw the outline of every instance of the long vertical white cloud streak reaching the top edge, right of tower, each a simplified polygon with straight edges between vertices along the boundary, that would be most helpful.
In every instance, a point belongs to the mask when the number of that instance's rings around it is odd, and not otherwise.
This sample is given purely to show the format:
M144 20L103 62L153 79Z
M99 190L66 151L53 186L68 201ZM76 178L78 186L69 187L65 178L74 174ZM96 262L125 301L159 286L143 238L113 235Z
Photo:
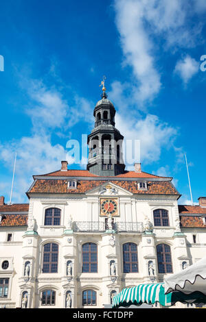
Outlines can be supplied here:
M144 29L142 3L115 1L115 10L125 64L132 66L139 82L135 96L139 102L153 99L161 88L161 82L152 58L152 44Z

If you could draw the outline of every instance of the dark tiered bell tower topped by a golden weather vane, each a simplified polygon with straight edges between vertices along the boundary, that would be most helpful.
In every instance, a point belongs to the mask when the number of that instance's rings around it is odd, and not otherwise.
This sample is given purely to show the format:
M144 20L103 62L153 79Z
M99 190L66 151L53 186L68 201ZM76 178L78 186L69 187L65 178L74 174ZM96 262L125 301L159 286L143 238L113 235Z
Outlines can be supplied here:
M93 111L95 127L87 138L89 158L87 170L95 175L115 176L124 173L125 164L122 158L124 136L115 128L115 108L107 99L104 79L102 99L96 103Z

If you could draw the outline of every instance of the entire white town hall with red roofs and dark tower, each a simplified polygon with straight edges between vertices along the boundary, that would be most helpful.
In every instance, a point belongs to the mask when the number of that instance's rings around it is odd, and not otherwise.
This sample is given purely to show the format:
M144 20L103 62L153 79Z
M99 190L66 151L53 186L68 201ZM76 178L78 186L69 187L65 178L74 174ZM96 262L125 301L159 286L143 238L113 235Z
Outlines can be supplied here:
M87 170L62 161L33 176L28 203L0 199L1 308L104 308L205 256L206 197L179 205L172 177L126 171L105 88L93 115Z

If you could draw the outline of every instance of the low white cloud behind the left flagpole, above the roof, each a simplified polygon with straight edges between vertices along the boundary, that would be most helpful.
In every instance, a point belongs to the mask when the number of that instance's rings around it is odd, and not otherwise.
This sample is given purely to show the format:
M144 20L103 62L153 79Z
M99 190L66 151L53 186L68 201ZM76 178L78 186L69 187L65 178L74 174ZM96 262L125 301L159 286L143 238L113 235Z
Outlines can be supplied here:
M17 153L13 193L15 202L26 200L25 191L32 184L32 175L56 171L60 169L60 161L66 158L65 149L61 145L52 145L49 136L43 135L23 137L21 140L0 145L0 160L10 171L13 168L15 152Z

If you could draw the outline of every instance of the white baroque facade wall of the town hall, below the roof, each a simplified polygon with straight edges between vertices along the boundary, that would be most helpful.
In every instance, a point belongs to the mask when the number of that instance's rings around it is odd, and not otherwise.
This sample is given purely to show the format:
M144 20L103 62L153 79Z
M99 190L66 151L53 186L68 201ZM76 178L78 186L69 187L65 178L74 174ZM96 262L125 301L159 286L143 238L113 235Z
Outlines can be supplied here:
M52 180L59 179L56 177ZM157 177L149 180L152 182ZM107 190L102 195L101 189L108 184L115 189L115 195L109 195ZM0 297L1 307L103 308L111 304L113 294L119 293L122 288L139 283L161 282L166 275L180 271L184 265L192 264L205 254L204 217L198 214L198 220L203 222L201 227L180 229L176 221L180 218L177 204L179 195L134 194L111 181L84 194L73 191L71 195L28 193L28 196L28 214L21 211L14 214L10 208L18 205L0 206L3 217L0 230L2 292L8 280L8 290L4 297ZM108 216L100 216L101 201L102 198L113 200L114 197L117 199L117 216L110 230L105 224ZM201 206L193 208L198 208L198 211L201 208L203 212L206 210ZM51 209L60 210L58 225L54 225L54 222L47 225L45 222L45 214ZM159 209L166 210L169 225L155 225L154 211ZM19 219L14 221L14 218L10 219L11 216L19 216ZM19 224L18 220L23 216L28 216L28 226L26 223ZM182 217L184 214L181 214ZM188 217L196 219L194 214L187 214ZM3 225L9 220L10 223ZM8 240L8 234L12 235L11 240ZM161 273L164 267L159 268L157 245L162 244L168 245L170 249L170 273ZM57 248L52 252L52 249L45 251L45 245L57 245ZM92 251L89 249L91 252L88 253L86 249L84 253L83 245L89 245L90 248L96 245L93 258L87 258ZM129 246L128 252L124 251L124 245ZM135 248L131 250L131 245L136 245L137 251ZM47 260L47 256L54 258ZM49 269L44 271L47 262ZM3 263L8 267L4 268Z

